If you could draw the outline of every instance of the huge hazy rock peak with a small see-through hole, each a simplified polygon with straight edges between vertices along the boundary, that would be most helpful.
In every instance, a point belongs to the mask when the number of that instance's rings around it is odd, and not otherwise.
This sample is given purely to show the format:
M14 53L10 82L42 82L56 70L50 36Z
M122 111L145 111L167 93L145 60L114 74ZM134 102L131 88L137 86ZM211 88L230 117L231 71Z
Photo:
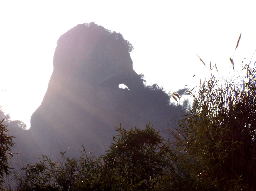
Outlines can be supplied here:
M120 123L126 129L150 123L164 130L167 120L180 115L164 91L144 86L133 70L132 48L121 34L94 23L79 24L59 38L47 92L31 116L29 152L57 155L68 148L77 157L84 145L100 155Z

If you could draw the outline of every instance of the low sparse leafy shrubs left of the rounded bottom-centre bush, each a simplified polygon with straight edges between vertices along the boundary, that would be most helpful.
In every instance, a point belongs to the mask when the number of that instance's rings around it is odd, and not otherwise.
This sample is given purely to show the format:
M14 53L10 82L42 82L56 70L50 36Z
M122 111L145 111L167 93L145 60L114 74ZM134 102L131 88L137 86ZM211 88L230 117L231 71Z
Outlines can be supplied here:
M15 173L17 190L100 190L102 162L85 152L76 159L60 154L57 162L42 156L35 165L27 164Z

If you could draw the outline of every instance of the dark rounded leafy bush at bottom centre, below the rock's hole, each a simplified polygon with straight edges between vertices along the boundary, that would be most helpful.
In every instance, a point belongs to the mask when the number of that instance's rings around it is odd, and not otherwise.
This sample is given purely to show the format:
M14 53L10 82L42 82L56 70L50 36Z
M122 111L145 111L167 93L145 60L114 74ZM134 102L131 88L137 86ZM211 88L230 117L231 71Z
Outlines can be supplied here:
M172 171L170 147L152 127L126 131L120 128L118 138L103 157L108 189L155 190L163 186Z

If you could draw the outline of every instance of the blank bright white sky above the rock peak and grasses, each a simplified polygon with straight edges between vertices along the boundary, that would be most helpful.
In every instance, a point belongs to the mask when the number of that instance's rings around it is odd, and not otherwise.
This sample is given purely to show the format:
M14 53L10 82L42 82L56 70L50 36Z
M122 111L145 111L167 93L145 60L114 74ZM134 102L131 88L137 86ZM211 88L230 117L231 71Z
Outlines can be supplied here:
M207 64L216 63L219 73L228 73L240 33L234 56L238 70L243 58L249 62L256 49L254 0L122 2L0 1L3 111L30 127L30 116L43 100L53 70L57 39L84 22L123 34L135 48L135 71L167 92L185 84L194 87L210 75L196 54ZM194 74L198 76L193 78Z

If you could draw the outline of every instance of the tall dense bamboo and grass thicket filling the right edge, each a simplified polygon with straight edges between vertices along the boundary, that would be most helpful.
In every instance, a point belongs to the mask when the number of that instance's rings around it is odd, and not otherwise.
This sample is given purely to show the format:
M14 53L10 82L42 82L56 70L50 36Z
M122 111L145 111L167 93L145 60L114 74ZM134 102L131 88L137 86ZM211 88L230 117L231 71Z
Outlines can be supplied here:
M256 190L256 72L206 80L172 143L179 183L195 190ZM177 177L176 177L177 178Z

